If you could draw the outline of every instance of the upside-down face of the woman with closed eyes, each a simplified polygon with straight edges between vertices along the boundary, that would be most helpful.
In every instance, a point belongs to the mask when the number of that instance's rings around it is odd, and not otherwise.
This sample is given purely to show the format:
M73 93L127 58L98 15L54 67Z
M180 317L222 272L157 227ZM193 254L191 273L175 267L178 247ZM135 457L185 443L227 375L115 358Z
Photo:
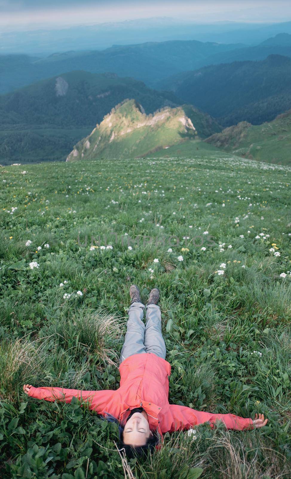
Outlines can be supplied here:
M124 444L143 446L152 436L146 411L135 412L126 422L123 431Z

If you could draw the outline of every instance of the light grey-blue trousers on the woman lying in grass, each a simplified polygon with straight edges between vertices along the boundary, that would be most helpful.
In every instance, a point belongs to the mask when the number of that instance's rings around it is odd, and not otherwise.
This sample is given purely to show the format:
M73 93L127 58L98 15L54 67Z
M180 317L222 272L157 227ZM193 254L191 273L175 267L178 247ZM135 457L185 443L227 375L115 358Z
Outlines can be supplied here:
M143 322L144 309L146 321ZM119 363L133 354L153 353L165 359L166 346L162 337L162 317L160 307L149 304L146 307L137 301L128 310L127 332L120 354Z

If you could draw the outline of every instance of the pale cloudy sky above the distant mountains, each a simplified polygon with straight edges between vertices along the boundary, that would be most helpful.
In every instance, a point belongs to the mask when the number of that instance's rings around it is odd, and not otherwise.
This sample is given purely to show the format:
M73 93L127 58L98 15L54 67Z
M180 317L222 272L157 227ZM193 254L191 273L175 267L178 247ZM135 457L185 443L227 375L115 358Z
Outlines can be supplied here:
M284 22L290 0L0 0L0 30L35 30L152 17L211 23Z

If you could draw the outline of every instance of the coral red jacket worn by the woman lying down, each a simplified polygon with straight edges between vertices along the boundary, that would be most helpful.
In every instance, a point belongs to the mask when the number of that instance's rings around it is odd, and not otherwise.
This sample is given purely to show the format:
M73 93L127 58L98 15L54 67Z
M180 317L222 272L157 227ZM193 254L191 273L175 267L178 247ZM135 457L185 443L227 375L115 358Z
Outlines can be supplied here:
M235 414L212 414L195 411L186 406L169 404L169 378L171 365L152 353L134 354L125 359L120 367L120 387L116 391L81 391L64 388L34 388L28 395L36 399L54 401L63 399L70 402L73 397L89 402L90 409L98 414L112 414L121 424L126 422L129 411L142 406L147 412L150 429L183 431L196 424L209 421L213 427L216 420L225 423L227 429L252 429L250 418Z

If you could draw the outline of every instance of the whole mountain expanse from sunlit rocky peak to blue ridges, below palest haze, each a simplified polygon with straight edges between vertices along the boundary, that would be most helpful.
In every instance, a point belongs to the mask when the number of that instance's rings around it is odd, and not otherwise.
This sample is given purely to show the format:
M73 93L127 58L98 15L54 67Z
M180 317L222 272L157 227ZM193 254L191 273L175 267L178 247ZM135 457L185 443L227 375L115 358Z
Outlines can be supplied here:
M88 71L74 68L79 65ZM191 40L43 58L0 55L0 68L0 91L12 90L0 95L4 164L140 157L164 149L193 154L196 148L290 163L290 112L282 114L291 109L287 33L258 46Z

